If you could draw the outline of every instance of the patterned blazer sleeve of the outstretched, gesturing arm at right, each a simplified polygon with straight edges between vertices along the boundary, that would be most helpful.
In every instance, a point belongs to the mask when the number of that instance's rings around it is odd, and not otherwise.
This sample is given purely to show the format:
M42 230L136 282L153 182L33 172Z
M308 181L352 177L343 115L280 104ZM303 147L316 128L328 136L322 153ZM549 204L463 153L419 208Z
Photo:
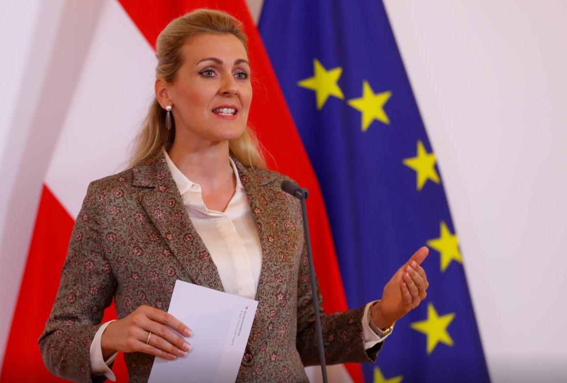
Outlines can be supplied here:
M375 361L384 342L365 350L362 329L365 307L323 314L323 299L319 291L319 282L317 282L317 299L321 313L321 331L327 364ZM318 342L307 249L303 245L298 274L296 347L304 365L321 364Z

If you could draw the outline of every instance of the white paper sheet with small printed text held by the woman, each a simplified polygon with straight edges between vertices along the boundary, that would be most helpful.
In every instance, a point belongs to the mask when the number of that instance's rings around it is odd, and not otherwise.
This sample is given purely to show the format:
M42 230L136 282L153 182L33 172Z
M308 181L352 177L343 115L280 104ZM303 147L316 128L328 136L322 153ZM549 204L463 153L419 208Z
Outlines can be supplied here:
M149 383L234 382L258 302L177 280L168 313L193 330L184 358L155 358Z

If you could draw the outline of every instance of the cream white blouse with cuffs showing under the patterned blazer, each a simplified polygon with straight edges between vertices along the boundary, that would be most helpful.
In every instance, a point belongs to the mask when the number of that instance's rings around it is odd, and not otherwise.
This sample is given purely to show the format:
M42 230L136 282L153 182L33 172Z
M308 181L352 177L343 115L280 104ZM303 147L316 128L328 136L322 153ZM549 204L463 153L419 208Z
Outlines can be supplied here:
M164 156L191 223L217 266L223 288L228 293L256 299L262 266L262 248L246 191L240 182L234 161L229 158L236 177L235 193L225 211L215 211L205 206L201 186L185 177L165 151ZM384 341L389 335L380 337L370 328L367 314L372 303L366 305L362 316L366 350ZM100 344L100 338L111 322L106 322L96 332L91 343L90 359L93 375L105 375L109 380L115 381L116 377L108 365L116 358L117 353L104 360Z

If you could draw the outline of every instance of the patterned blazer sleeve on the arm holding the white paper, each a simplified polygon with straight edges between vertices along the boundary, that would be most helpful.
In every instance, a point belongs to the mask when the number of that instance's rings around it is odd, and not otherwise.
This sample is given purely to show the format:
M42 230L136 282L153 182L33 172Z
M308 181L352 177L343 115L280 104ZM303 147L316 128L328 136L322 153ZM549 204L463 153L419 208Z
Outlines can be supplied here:
M97 201L104 196L98 189L96 182L88 186L71 234L59 290L39 338L45 367L53 375L76 382L105 380L104 376L91 376L90 345L117 286L101 238L104 206Z

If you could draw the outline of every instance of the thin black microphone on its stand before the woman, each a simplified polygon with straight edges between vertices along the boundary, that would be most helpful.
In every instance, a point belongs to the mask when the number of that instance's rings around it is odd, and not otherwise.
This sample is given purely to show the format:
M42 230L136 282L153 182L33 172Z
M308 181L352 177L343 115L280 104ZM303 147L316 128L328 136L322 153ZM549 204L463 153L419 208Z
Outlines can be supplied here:
M305 233L305 244L307 245L307 259L309 261L309 273L311 274L311 291L313 294L313 306L315 308L315 331L319 341L319 359L321 361L321 375L323 383L327 383L327 365L325 363L325 348L323 346L323 333L321 332L321 314L319 313L319 300L317 298L317 284L315 282L315 268L313 267L313 257L311 256L311 239L309 236L309 223L307 222L307 207L305 199L309 194L307 189L291 181L282 181L280 188L287 194L293 195L301 201L301 211L303 215L303 231Z

